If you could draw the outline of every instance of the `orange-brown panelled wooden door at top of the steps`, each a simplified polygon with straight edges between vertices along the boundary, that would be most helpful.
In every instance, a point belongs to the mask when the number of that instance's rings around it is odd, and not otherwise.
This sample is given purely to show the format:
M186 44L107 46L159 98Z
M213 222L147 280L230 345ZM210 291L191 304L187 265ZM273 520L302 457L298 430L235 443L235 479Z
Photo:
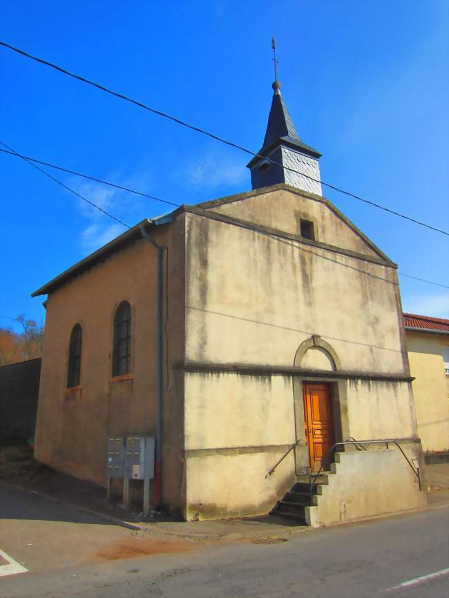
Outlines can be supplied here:
M310 467L317 472L321 460L334 444L332 407L329 387L325 384L303 383L305 439L309 445ZM323 463L324 469L329 463Z

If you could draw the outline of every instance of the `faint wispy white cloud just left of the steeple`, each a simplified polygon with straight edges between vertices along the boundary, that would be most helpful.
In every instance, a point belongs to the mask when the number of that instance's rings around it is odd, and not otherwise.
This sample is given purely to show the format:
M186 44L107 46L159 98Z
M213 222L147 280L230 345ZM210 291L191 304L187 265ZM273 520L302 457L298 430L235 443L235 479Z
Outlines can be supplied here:
M180 175L184 182L197 189L215 189L222 184L241 184L247 177L247 171L241 157L233 159L225 153L209 150L191 160L182 168Z

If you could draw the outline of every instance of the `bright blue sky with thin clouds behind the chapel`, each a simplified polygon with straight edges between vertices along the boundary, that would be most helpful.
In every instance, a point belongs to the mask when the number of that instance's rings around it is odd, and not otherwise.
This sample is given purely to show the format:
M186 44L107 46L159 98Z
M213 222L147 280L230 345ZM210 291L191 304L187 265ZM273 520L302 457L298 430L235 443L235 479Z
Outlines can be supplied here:
M282 92L321 176L449 229L449 1L1 0L1 39L258 151L278 43ZM251 188L247 155L0 48L1 135L16 151L182 204ZM121 233L0 155L0 314ZM50 171L128 224L167 211ZM323 188L404 274L449 285L448 238ZM399 277L407 311L449 318L449 291ZM14 325L1 319L0 325Z

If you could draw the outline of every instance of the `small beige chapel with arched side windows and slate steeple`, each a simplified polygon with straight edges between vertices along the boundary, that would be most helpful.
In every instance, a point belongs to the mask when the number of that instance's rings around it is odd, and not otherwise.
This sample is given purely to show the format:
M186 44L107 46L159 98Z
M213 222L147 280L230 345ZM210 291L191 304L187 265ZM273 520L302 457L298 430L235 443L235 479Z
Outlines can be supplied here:
M422 508L397 265L323 197L273 88L251 191L144 220L33 293L35 457L106 485L108 437L155 436L152 501L187 520Z

